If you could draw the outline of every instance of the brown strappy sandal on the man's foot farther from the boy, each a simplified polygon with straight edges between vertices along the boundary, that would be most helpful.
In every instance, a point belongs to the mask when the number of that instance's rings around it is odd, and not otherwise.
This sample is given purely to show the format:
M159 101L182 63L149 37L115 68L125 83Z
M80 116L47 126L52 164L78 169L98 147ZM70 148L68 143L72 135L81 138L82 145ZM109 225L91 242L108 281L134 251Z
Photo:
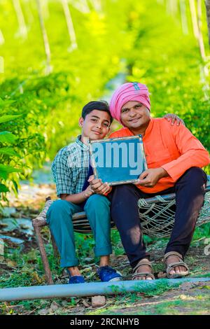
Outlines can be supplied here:
M179 262L172 262L171 264L167 265L167 262L166 261L167 261L167 258L169 256L178 256L179 257ZM165 264L167 265L166 272L167 272L167 278L168 279L181 278L183 276L187 276L189 274L189 272L190 272L189 267L186 264L186 262L183 262L182 255L180 253L177 253L176 251L169 251L169 253L166 253L165 256L164 256L164 261L165 261ZM184 272L170 274L170 271L172 269L174 269L176 266L186 267L187 270L184 271Z

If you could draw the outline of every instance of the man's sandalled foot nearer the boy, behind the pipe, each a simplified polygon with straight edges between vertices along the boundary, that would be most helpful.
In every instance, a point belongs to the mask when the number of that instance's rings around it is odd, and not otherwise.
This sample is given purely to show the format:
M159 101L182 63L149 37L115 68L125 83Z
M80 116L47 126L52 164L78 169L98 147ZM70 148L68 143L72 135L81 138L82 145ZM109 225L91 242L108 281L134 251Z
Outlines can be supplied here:
M153 267L147 259L141 259L133 269L132 280L154 280Z

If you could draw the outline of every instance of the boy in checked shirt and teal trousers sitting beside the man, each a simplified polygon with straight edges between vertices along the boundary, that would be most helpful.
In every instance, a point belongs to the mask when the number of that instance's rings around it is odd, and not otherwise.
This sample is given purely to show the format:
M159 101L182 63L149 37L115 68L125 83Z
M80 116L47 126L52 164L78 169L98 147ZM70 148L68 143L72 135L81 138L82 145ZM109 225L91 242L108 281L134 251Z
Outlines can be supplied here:
M104 195L94 194L87 179L89 169L89 140L103 139L113 121L106 102L90 102L83 107L79 119L81 135L74 143L62 148L52 163L56 182L56 200L48 209L47 223L55 237L61 256L61 267L69 273L69 283L84 283L78 269L72 215L85 211L95 240L94 253L100 257L97 274L101 281L119 281L121 276L109 266L111 248L110 202ZM104 188L106 193L109 187Z

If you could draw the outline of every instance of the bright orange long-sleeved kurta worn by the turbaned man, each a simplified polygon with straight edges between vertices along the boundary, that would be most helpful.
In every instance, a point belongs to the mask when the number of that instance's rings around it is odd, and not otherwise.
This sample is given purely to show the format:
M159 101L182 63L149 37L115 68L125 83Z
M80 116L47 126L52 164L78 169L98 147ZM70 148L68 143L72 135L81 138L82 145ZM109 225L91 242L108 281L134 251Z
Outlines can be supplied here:
M109 137L128 137L134 134L126 127L113 132ZM171 125L165 118L151 118L143 137L148 168L164 168L169 174L153 188L137 186L145 193L158 193L174 186L174 183L190 167L209 165L207 150L183 125Z

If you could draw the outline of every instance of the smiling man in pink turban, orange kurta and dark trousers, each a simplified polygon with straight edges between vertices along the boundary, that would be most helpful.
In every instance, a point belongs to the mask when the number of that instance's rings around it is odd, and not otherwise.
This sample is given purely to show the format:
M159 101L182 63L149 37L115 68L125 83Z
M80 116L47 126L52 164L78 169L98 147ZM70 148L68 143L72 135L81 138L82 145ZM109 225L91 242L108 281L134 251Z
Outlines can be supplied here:
M111 115L124 127L110 137L141 134L148 165L135 185L115 186L111 190L111 217L130 260L133 279L154 279L137 202L140 197L176 193L174 228L165 251L167 277L176 278L189 272L183 258L204 202L207 175L201 168L209 164L209 154L184 125L172 126L165 119L151 118L150 110L148 88L140 83L125 83L111 99ZM96 193L106 189L98 180L91 185Z

